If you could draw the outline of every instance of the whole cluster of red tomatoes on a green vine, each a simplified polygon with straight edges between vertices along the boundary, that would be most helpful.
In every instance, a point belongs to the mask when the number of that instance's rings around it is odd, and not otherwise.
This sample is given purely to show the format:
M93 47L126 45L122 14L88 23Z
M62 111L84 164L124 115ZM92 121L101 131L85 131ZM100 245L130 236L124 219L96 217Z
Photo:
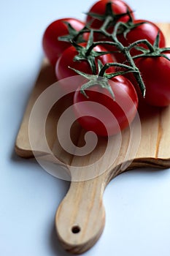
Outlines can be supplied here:
M170 104L170 49L163 32L150 20L136 19L123 0L96 1L85 21L55 20L47 26L42 46L57 80L85 77L85 83L61 84L64 91L73 86L78 121L98 135L128 127L139 102Z

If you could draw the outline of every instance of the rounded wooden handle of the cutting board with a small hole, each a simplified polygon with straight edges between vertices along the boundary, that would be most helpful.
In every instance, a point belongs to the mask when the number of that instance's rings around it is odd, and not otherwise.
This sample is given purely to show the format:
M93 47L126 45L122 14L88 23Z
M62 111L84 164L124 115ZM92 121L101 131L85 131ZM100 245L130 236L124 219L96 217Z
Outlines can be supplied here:
M71 183L55 217L58 238L66 251L81 254L101 236L105 223L104 187L102 175Z

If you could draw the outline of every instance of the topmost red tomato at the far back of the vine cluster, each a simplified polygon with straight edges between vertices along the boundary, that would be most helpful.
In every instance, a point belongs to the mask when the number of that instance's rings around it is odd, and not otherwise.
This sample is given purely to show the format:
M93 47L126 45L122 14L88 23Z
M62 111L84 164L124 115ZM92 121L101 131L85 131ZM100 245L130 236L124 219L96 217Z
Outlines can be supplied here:
M114 12L115 17L113 17L112 23L115 23L117 21L116 15L120 15L127 12L128 10L131 11L132 17L134 17L134 14L131 10L131 7L128 6L128 4L125 3L125 1L122 0L101 0L97 1L93 6L90 8L88 12L93 12L98 15L104 15L106 12L106 4L108 2L112 3L112 12ZM128 15L125 15L121 18L118 18L118 21L127 21L129 19ZM105 20L105 19L104 19ZM90 23L90 26L93 29L100 29L101 25L104 23L104 20L98 20L97 18L93 18L92 16L88 15L86 19L86 23ZM113 28L113 27L112 27Z

